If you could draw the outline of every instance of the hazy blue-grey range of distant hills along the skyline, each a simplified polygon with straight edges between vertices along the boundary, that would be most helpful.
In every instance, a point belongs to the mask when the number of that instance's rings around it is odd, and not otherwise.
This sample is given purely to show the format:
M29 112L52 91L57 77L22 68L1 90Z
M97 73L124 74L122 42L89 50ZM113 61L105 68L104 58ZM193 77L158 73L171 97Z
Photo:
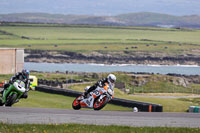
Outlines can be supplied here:
M97 24L122 26L200 28L200 16L172 16L158 13L129 13L117 16L62 15L47 13L1 14L1 22Z

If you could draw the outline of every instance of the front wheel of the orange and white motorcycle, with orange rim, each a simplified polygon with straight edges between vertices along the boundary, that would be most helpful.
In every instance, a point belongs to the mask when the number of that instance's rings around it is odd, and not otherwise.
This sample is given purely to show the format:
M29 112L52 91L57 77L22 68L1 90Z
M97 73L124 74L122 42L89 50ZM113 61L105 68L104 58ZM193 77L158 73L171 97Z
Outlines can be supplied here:
M94 110L102 109L108 103L108 98L105 96L103 99L100 100L100 97L94 100L93 108Z

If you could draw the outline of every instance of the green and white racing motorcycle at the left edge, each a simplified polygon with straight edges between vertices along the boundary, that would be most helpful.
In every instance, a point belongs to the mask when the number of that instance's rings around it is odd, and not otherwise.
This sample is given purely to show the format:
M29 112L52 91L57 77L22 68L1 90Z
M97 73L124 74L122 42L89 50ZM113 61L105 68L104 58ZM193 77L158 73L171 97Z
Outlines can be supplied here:
M16 80L4 90L2 99L0 100L0 106L12 106L19 101L25 91L25 83L21 80Z

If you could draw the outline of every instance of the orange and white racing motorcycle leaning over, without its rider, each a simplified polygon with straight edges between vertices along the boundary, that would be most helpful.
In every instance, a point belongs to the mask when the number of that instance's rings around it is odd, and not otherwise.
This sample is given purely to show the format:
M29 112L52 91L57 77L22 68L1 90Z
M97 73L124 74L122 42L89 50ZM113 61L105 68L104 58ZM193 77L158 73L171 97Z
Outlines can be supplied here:
M85 91L87 89L88 87L85 88ZM87 98L84 98L83 95L78 96L73 101L72 107L75 110L79 110L80 108L100 110L113 98L113 95L113 87L106 83L104 87L97 87L94 91L90 92Z

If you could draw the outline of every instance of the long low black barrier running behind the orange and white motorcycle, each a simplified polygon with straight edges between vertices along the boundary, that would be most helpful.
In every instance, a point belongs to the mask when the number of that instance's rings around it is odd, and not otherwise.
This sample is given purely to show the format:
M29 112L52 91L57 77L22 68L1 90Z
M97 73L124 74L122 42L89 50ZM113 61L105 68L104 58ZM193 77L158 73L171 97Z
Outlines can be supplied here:
M61 89L61 88L53 88L53 87L42 86L42 85L37 86L35 90L46 92L46 93L71 96L71 97L77 97L82 94L82 92L78 92L78 91ZM109 103L114 104L114 105L129 107L129 108L137 107L138 110L142 112L162 112L163 111L162 105L159 105L159 104L132 101L132 100L126 100L126 99L121 99L121 98L113 98Z

